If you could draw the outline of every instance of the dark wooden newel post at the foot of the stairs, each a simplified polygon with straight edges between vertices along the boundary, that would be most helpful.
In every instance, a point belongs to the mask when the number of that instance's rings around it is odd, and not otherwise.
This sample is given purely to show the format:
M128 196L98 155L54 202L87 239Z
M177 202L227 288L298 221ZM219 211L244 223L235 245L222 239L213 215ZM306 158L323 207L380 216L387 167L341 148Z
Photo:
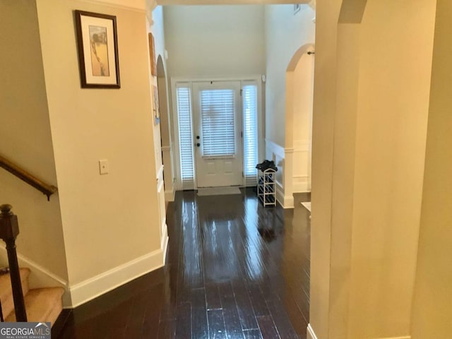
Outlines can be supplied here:
M11 205L0 206L0 238L6 242L6 251L8 252L9 273L11 275L11 287L13 288L16 321L27 321L16 253L16 237L19 234L19 225L17 215L14 215L11 212L11 208Z

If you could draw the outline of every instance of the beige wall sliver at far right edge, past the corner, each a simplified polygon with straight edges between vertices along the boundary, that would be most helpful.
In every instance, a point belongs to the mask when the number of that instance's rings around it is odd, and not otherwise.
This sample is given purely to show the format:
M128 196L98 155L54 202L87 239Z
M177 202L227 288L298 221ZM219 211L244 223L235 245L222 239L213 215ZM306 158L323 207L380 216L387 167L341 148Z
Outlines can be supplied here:
M452 333L452 3L438 0L412 339Z

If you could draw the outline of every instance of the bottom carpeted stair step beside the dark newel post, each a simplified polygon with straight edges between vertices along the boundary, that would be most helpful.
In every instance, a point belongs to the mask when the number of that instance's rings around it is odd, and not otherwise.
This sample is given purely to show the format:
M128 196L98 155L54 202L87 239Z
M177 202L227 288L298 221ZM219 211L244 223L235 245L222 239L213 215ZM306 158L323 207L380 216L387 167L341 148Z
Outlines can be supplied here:
M52 325L57 320L63 304L61 296L64 289L61 287L37 288L28 291L25 295L25 309L27 310L28 321L44 323L50 321ZM5 321L16 321L16 314L11 312Z

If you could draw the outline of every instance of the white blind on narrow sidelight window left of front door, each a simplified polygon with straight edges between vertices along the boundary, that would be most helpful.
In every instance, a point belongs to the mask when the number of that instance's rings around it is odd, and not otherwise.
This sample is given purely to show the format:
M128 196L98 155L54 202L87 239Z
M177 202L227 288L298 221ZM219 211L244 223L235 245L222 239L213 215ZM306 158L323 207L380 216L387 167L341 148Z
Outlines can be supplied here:
M194 141L191 118L191 90L187 84L177 84L176 88L182 189L194 189Z

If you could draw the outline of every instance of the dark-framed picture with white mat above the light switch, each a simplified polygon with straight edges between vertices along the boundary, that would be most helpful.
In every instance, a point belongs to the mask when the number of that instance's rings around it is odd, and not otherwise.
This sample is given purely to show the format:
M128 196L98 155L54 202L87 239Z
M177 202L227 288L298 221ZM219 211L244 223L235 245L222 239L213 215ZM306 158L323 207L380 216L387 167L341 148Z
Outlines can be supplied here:
M116 16L75 11L82 88L121 88Z

